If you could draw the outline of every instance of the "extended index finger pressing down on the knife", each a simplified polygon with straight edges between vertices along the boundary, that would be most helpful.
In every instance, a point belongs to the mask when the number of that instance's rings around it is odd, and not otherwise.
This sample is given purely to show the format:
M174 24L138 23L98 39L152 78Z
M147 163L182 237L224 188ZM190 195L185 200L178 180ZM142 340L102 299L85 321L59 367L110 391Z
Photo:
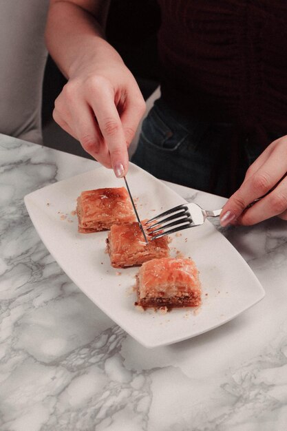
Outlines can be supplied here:
M114 103L114 95L111 92L98 91L92 101L92 109L109 149L111 166L116 176L121 178L127 174L129 156L123 125Z

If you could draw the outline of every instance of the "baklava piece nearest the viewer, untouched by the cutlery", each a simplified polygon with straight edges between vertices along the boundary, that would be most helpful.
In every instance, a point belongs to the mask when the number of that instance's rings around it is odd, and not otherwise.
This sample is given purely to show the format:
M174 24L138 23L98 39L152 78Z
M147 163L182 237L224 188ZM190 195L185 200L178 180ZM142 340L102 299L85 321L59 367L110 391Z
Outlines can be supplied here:
M162 258L142 264L136 305L143 308L196 307L201 303L198 269L191 259Z

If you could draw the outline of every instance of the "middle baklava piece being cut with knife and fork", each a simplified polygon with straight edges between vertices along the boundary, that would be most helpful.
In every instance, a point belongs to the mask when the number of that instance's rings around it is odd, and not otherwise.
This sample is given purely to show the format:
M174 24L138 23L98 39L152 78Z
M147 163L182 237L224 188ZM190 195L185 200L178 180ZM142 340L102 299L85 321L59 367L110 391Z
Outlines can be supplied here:
M111 259L111 266L124 268L125 266L141 265L155 257L169 256L168 238L164 236L146 244L138 222L113 224L107 238L107 251Z

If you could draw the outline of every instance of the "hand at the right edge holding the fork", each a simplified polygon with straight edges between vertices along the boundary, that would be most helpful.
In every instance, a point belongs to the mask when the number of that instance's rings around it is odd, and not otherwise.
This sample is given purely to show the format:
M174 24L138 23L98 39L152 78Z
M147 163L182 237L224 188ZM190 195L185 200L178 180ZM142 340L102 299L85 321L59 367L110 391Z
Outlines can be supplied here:
M240 189L235 191L223 207L220 216L222 226L251 225L274 215L287 220L286 172L287 136L282 136L271 143L248 168ZM262 196L264 198L246 209Z

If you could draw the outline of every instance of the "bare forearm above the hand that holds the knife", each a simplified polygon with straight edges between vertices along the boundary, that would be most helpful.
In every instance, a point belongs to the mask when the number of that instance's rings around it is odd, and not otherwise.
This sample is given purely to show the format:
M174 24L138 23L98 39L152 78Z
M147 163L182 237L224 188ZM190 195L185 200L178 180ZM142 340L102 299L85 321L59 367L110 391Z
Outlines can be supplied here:
M108 6L109 1L51 1L45 32L47 49L67 78L93 59L120 60L105 41Z

